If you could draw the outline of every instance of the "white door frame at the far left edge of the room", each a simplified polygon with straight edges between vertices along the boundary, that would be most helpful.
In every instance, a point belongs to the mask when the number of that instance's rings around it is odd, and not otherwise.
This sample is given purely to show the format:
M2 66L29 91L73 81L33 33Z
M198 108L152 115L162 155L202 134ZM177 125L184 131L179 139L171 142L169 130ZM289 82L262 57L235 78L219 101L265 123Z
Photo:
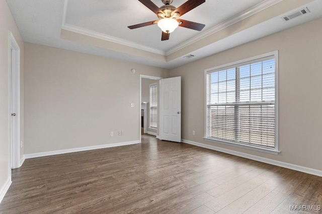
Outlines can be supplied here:
M20 161L20 47L12 34L10 32L10 49L9 49L9 81L10 81L10 167L11 168L18 168L21 166ZM16 93L12 90L12 81L15 82L15 90ZM17 110L13 112L12 101L17 101ZM16 113L17 115L17 125L14 126L11 122L12 120L12 113ZM12 130L16 135L15 139L12 140Z

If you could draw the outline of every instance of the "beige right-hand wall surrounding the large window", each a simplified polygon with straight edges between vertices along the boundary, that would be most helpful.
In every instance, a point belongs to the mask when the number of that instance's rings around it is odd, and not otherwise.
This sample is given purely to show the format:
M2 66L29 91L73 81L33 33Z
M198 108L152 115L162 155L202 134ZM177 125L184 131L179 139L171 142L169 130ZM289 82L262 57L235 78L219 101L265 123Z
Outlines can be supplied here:
M182 76L182 138L322 170L322 19L173 69ZM204 70L279 51L279 147L273 155L204 137ZM192 130L196 135L192 135Z

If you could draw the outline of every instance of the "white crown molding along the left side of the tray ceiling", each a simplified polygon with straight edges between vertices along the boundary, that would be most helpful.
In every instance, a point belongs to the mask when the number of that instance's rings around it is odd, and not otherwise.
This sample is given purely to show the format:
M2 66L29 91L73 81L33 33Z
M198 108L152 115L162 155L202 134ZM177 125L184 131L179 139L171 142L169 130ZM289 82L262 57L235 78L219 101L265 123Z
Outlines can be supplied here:
M79 28L79 27L69 25L69 24L64 24L61 27L61 29L64 29L64 30L67 30L67 31L72 31L74 33L83 34L83 35L94 37L94 38L98 38L98 39L101 39L101 40L106 40L106 41L113 42L113 43L118 43L120 45L125 45L125 46L128 46L128 47L137 48L137 49L140 49L140 50L143 50L143 51L148 51L148 52L151 52L151 53L154 53L154 54L160 54L160 55L165 55L166 54L166 52L162 51L162 50L150 48L150 47L140 45L140 44L137 44L137 43L134 43L134 42L130 42L130 41L123 40L123 39L116 38L116 37L112 37L112 36L108 36L106 34L101 34L101 33L91 31L91 30L88 30L88 29Z

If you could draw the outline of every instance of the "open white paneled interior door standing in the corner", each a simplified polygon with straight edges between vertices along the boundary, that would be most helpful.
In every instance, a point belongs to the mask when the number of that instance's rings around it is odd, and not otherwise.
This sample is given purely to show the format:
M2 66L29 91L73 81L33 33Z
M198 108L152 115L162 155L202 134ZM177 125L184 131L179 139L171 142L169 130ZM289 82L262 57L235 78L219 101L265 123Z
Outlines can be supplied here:
M181 77L160 80L160 139L181 142Z

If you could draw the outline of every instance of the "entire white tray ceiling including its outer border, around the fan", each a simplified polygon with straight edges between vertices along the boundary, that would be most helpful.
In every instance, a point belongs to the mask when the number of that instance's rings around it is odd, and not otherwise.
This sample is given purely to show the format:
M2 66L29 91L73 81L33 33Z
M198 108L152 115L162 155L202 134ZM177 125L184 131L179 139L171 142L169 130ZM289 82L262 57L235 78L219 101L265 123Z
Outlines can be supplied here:
M134 30L127 28L130 25L157 20L152 11L136 0L7 0L7 2L25 42L168 69L322 17L322 1L306 1L307 4L292 8L284 14L264 20L243 31L231 33L226 38L211 44L205 43L202 47L186 51L184 48L193 43L215 34L224 27L261 13L266 8L280 3L281 0L206 0L206 3L181 17L184 20L205 24L206 27L201 32L179 27L170 35L168 41L161 41L161 30L157 25ZM161 0L152 2L158 7L163 5ZM172 5L178 8L185 2L186 0L174 0ZM304 7L308 7L311 13L288 22L281 19L283 15ZM63 40L61 29L135 47L148 53L164 55L165 60L149 59L130 52ZM181 51L179 57L166 60L167 55L177 51ZM193 54L195 57L190 60L182 58L188 54Z

